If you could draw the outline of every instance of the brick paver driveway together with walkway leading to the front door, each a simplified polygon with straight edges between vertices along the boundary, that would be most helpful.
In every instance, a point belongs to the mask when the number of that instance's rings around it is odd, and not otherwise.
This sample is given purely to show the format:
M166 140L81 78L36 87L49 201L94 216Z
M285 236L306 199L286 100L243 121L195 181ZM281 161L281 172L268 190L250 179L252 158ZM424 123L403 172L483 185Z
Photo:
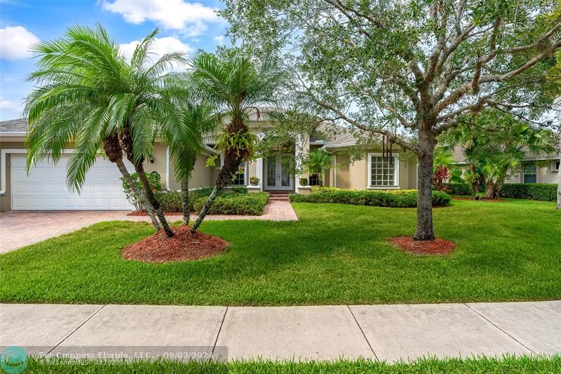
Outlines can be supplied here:
M0 212L0 253L73 232L97 222L111 220L147 221L148 217L127 215L130 211L8 211ZM181 220L170 215L170 221ZM191 215L195 220L196 215ZM208 215L208 220L298 220L288 201L271 201L263 215Z

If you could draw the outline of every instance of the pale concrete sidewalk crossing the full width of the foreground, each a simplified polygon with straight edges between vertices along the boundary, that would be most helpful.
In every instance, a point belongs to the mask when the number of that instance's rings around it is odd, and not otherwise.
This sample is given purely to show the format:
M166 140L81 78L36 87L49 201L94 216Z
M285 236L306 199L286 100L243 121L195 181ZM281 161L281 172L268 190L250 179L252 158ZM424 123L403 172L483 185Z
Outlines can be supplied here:
M104 350L132 356L149 349L158 356L174 347L204 357L214 352L219 359L554 354L561 352L561 301L311 307L2 304L0 332L0 349L19 345L29 354Z

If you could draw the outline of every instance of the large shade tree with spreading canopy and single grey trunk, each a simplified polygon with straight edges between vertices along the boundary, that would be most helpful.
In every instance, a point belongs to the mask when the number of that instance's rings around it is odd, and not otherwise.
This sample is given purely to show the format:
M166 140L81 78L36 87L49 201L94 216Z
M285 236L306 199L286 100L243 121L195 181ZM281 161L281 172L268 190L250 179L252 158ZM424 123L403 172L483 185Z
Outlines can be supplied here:
M485 107L536 120L561 46L557 0L225 0L231 36L284 52L309 110L419 160L416 240L434 239L438 135ZM538 110L539 109L539 110Z

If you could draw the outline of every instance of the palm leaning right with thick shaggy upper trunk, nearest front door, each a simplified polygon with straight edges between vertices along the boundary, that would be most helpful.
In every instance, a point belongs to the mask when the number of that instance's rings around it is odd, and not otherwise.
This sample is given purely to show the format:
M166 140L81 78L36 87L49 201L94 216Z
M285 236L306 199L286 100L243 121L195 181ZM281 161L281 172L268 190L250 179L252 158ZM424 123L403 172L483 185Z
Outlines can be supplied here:
M240 163L254 156L255 135L250 133L246 123L249 112L257 110L259 113L258 107L263 105L280 105L278 88L285 79L285 72L274 58L258 63L248 53L236 49L222 51L219 55L198 53L192 58L191 66L201 98L217 108L219 121L227 119L217 142L222 152L222 168L212 194L191 227L191 232L196 232L218 194L231 184Z

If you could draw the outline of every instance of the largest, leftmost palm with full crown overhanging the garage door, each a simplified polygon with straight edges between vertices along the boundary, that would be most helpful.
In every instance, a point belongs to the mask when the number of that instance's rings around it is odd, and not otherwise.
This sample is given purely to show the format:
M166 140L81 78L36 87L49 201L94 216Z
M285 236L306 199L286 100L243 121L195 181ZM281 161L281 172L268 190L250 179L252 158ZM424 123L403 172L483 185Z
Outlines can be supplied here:
M183 53L166 53L153 62L151 47L157 33L154 30L137 46L130 62L100 25L70 27L64 37L32 48L39 60L28 80L38 87L25 105L29 118L27 167L48 152L57 162L62 150L72 144L67 183L79 191L102 147L123 178L135 186L123 163L124 152L142 183L138 194L154 227L161 225L172 236L143 162L152 154L158 132L189 133L182 107L165 94L166 81L174 77L168 69L186 59Z

